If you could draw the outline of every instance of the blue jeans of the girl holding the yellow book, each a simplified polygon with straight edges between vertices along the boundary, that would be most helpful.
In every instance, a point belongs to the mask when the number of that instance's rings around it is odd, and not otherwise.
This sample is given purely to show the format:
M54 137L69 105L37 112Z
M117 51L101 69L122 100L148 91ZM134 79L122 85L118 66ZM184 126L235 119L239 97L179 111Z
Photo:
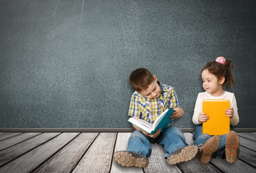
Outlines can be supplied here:
M209 134L203 134L203 126L195 125L195 145L203 145L209 138L211 138L211 135ZM221 127L219 127L221 128ZM230 130L234 130L234 127L230 125ZM220 135L220 147L217 151L217 154L221 157L222 155L225 155L225 147L226 147L226 137L225 135Z

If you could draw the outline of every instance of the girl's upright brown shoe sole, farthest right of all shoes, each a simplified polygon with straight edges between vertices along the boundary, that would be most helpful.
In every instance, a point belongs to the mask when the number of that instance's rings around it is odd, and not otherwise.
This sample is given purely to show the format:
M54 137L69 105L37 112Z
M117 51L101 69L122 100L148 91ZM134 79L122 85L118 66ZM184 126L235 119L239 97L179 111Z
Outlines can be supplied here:
M229 163L234 163L238 159L240 140L235 131L229 131L226 137L225 155Z

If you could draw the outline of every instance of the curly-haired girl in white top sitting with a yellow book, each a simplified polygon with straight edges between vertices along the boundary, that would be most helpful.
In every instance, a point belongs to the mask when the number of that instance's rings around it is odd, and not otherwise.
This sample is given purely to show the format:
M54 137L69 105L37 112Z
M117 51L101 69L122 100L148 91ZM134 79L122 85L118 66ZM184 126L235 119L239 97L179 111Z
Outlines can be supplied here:
M193 123L195 124L195 144L199 146L199 160L207 164L213 153L227 162L234 163L238 159L240 140L234 131L235 125L239 122L236 98L234 93L225 91L225 85L234 87L235 79L231 73L234 63L231 59L225 59L220 55L213 62L207 63L201 70L203 88L206 92L200 92L195 103ZM230 131L228 134L211 136L202 133L202 122L209 119L209 116L202 112L202 101L204 99L228 99L231 106L225 110L225 114L230 118ZM220 128L217 127L216 128Z

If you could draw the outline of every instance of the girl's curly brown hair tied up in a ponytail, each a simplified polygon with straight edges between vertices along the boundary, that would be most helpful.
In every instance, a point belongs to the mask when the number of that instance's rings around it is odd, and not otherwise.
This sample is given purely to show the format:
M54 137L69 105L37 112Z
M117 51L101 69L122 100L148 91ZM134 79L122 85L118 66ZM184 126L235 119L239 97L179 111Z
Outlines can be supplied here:
M223 55L219 55L218 57L223 57ZM231 72L231 69L235 68L235 64L231 59L226 59L225 65L220 64L216 61L207 63L204 68L201 70L201 74L204 70L208 69L209 73L215 75L218 80L221 77L225 77L225 81L223 83L223 89L225 89L225 85L228 84L231 88L235 85L235 78Z

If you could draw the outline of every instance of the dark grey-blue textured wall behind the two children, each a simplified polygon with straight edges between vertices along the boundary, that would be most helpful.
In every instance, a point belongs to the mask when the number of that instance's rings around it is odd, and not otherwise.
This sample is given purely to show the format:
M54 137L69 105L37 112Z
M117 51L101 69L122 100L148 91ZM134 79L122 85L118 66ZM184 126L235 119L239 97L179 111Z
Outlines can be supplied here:
M130 128L132 70L175 87L193 127L200 70L234 60L238 128L256 128L255 0L1 0L0 128Z

